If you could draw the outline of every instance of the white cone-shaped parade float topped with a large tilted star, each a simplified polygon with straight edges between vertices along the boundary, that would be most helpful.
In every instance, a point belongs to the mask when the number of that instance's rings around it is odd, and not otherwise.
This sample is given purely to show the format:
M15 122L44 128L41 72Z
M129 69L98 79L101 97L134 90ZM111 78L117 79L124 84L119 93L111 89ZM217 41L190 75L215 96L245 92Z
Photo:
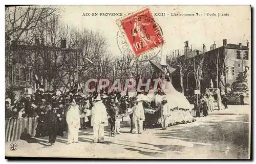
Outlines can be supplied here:
M153 90L150 90L147 95L143 96L143 101L147 104L147 107L144 109L145 124L147 126L161 125L160 105L164 97L167 99L169 110L168 126L196 121L190 114L191 106L186 97L178 92L173 87L171 81L168 80L175 69L170 67L163 68L152 61L150 63L159 76L159 86L164 86L164 92L153 92ZM162 80L160 77L165 77L165 79Z

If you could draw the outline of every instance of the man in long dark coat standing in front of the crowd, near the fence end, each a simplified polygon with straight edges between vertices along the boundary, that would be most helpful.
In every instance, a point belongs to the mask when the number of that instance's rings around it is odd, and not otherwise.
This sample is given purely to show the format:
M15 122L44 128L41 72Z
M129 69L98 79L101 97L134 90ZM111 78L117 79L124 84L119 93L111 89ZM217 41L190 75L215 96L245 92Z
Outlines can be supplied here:
M60 124L63 119L62 113L58 113L58 106L56 103L53 103L52 109L48 112L48 134L49 134L49 143L51 145L55 144L56 137L59 135Z

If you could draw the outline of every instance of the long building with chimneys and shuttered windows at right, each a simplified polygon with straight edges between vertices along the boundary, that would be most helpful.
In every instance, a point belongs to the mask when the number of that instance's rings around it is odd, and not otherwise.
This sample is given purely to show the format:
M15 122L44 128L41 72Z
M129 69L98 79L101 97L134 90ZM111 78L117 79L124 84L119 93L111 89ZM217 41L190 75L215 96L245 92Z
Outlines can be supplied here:
M203 47L205 47L205 45L203 45ZM227 44L227 40L223 39L222 46L216 47L216 43L214 42L214 44L210 46L209 51L205 51L205 48L203 48L203 51L193 51L188 48L188 41L186 41L184 54L186 61L191 64L195 59L198 60L199 56L203 56L204 58L201 93L204 93L206 88L210 88L211 80L214 83L214 88L220 87L220 78L223 75L225 85L229 84L229 86L231 86L232 83L236 81L239 72L243 72L245 69L250 69L248 41L246 42L246 45L242 45L242 43ZM175 83L179 84L179 73L176 73L174 76L176 79ZM184 76L183 85L185 95L194 94L196 80L193 71Z

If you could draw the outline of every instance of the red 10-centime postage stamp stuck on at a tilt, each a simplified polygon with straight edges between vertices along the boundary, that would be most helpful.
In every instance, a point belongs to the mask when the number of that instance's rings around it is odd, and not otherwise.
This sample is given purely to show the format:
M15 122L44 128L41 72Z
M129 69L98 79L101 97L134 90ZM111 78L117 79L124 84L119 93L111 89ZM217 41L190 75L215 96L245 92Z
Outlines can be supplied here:
M120 20L135 56L163 45L163 36L148 8Z

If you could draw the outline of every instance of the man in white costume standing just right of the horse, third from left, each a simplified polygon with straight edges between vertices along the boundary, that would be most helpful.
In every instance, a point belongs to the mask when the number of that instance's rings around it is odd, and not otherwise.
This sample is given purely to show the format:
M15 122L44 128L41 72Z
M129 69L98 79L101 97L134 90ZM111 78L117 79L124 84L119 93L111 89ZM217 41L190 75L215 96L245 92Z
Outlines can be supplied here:
M137 104L133 107L133 121L135 123L135 133L142 134L143 121L145 120L142 98L136 99Z

